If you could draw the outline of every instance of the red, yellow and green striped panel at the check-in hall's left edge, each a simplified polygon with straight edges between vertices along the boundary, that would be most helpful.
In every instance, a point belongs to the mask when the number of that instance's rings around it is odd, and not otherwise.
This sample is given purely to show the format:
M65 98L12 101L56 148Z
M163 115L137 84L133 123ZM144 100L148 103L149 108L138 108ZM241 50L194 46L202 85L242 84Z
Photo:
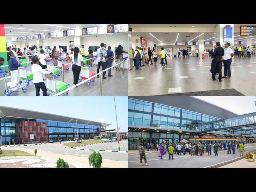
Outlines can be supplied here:
M4 70L9 70L6 53L4 24L0 24L0 57L4 58L4 64L1 66L1 68Z

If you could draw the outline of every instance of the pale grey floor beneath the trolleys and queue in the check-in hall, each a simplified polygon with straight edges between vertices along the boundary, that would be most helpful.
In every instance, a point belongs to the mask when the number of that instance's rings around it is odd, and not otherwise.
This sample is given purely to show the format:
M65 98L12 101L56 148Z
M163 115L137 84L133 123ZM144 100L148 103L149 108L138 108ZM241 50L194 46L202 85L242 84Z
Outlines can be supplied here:
M95 70L95 65L91 68L91 71ZM101 70L101 68L100 68ZM31 64L28 65L27 71L31 71ZM106 73L106 79L103 79L102 85L102 95L103 96L127 96L128 95L128 72L124 71L124 76L126 78L120 78L122 76L122 70L118 71L115 68L111 70L112 77L108 77L108 72ZM58 76L58 80L62 81L63 73ZM8 80L10 81L10 80ZM73 72L71 69L68 71L64 70L64 82L73 86ZM45 81L46 84L46 81ZM5 85L4 80L0 81L0 96L5 96ZM54 95L52 93L50 95ZM26 92L22 92L22 89L19 89L19 92L14 92L11 96L35 96L36 89L34 83L30 82L27 86ZM42 96L42 90L40 90L40 96ZM65 95L65 94L64 94ZM95 82L92 82L90 86L87 85L87 82L73 88L69 91L69 96L100 96L100 78L96 78Z

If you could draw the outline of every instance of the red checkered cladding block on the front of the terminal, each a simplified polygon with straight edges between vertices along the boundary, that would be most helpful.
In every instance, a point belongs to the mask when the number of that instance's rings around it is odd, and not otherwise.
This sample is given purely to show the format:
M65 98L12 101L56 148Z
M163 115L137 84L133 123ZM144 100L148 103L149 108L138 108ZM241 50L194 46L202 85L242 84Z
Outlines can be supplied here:
M30 135L34 134L34 141L42 142L48 141L47 123L34 121L21 121L16 124L16 138L18 143L28 143Z

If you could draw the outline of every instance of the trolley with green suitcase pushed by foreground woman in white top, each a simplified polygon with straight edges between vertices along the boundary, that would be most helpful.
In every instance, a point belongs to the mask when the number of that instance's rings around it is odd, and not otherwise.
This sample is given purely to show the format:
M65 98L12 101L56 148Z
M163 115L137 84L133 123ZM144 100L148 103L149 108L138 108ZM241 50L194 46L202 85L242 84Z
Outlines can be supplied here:
M66 88L70 87L70 84L57 80L56 74L46 74L45 77L46 77L46 88L47 88L48 95L50 95L53 92L54 93L61 92ZM68 95L68 91L66 92L66 95Z

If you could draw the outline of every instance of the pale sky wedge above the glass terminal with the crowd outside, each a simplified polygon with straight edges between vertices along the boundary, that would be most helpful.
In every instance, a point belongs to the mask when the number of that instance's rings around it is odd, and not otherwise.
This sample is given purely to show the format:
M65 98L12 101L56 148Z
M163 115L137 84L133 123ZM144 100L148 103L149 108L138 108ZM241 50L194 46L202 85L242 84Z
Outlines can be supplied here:
M194 96L238 115L256 112L256 96Z

